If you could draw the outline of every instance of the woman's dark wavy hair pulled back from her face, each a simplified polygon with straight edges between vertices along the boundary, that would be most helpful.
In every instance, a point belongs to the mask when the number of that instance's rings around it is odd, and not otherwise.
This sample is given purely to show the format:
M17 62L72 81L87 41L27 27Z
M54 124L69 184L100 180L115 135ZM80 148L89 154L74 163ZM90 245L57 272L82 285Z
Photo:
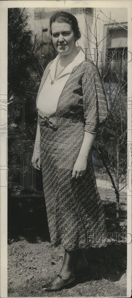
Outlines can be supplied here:
M79 39L81 37L81 33L78 27L78 21L77 19L74 17L74 15L72 15L71 13L66 13L64 11L59 11L58 13L55 13L54 15L52 15L52 17L50 18L49 21L49 26L50 26L50 34L52 35L52 30L51 30L51 25L52 23L68 23L71 25L72 30L74 32L75 35L75 41L77 41L77 39Z

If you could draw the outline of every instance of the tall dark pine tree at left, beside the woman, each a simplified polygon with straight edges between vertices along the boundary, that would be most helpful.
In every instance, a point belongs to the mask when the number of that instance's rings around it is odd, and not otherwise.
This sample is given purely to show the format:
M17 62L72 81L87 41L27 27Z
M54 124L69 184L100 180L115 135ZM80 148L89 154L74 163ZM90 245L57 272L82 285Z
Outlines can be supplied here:
M56 56L49 38L49 51L47 54L43 52L44 46L40 36L29 29L28 18L28 11L25 8L8 9L9 224L13 220L13 214L18 216L21 210L29 208L31 198L27 199L26 194L32 194L32 200L35 200L36 192L31 189L30 181L28 186L23 185L23 182L27 177L30 180L31 176L31 157L38 118L36 109L38 88L46 65ZM22 156L25 156L24 159ZM35 180L38 179L38 188L43 191L38 174L35 175ZM37 203L34 202L33 205L32 201L31 206L40 205L42 198L38 196Z

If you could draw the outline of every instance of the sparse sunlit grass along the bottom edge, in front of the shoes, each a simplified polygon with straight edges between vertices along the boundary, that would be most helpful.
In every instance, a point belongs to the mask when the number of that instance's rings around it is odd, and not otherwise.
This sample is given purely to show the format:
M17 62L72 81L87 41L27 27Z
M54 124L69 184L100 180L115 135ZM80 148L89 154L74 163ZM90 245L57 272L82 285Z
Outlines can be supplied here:
M115 285L110 280L91 280L85 282L75 282L69 289L63 289L57 292L43 293L42 284L48 282L42 277L33 278L17 288L9 288L8 297L122 297L126 296L126 289Z

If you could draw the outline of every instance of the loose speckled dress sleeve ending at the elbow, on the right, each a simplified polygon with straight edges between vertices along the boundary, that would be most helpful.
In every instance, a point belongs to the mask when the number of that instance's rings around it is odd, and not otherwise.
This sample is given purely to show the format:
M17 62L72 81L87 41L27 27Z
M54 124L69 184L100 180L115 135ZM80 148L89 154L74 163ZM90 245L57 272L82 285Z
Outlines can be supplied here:
M108 105L99 70L92 62L82 77L82 91L85 131L97 133L108 117Z

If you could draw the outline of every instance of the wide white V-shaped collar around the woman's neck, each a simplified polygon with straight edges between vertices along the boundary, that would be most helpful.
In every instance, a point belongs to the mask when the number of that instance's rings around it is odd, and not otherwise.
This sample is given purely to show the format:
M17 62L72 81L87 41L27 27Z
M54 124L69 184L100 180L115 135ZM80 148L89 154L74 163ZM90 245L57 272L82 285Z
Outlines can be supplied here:
M82 48L81 47L77 47L77 48L79 48L79 52L78 52L77 56L74 58L74 60L71 63L69 63L63 69L63 71L60 73L60 75L58 75L56 80L59 79L60 77L62 77L63 75L67 75L67 74L71 73L75 66L78 66L80 63L82 63L85 60L85 53L83 52ZM52 80L55 80L55 71L56 71L56 66L57 66L59 59L60 59L60 54L57 55L57 57L54 59L52 64L49 66L50 77Z

